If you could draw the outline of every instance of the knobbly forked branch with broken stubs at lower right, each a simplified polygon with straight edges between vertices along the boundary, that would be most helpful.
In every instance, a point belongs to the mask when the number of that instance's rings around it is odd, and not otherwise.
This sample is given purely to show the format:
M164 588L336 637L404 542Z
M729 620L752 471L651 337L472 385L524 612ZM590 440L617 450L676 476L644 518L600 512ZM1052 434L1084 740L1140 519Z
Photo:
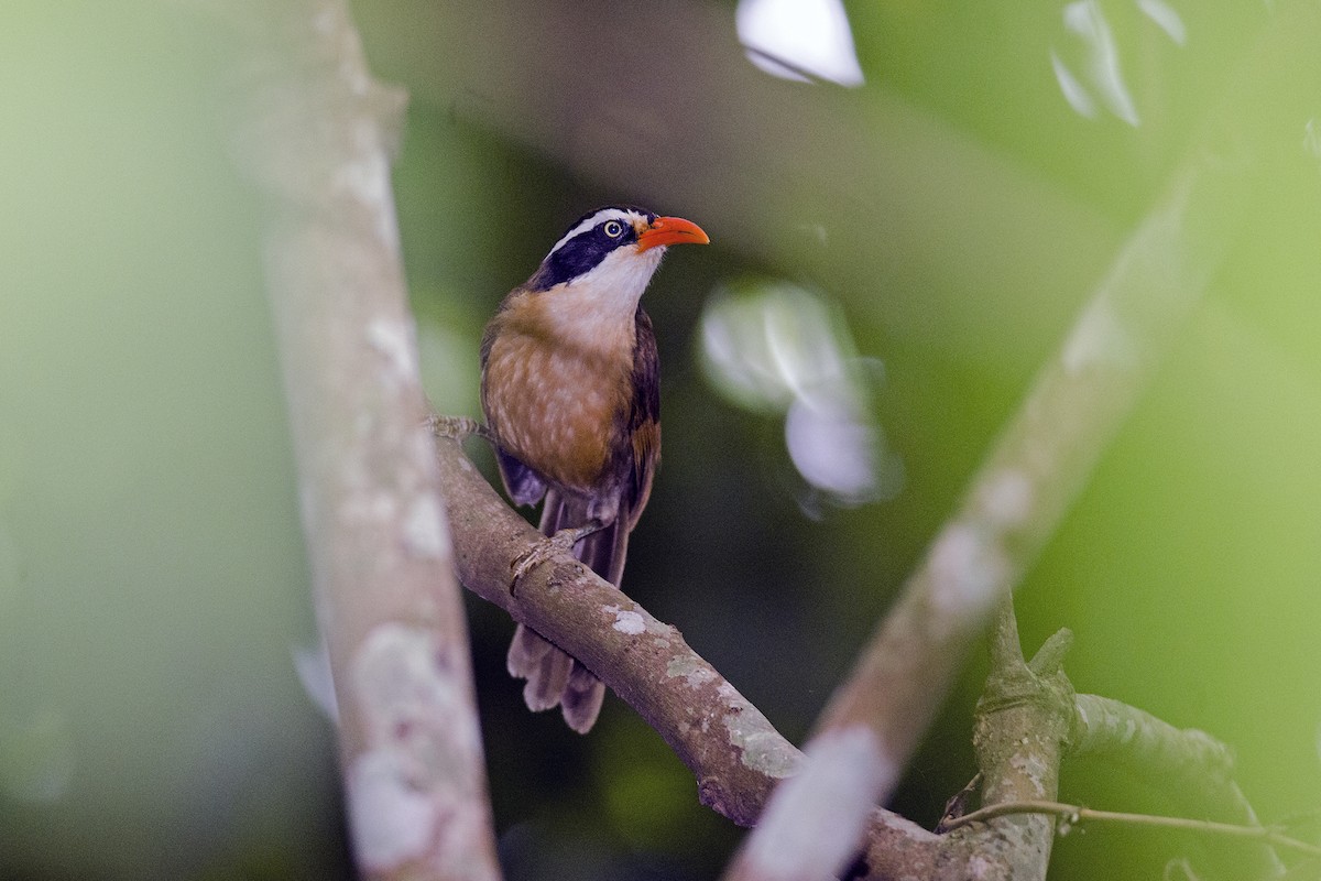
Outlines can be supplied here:
M1017 623L1003 604L992 635L992 671L978 701L975 746L982 769L983 807L942 820L954 855L978 859L980 877L1044 878L1057 824L1079 820L1129 822L1164 828L1214 832L1217 877L1269 878L1283 874L1272 849L1280 844L1306 853L1321 848L1263 828L1231 779L1230 750L1196 729L1180 730L1115 700L1074 695L1062 670L1073 634L1061 630L1028 663L1018 651ZM1157 785L1199 819L1152 818L1089 811L1055 803L1062 753L1095 754L1127 766ZM1034 815L1026 816L1022 815ZM1008 826L1003 818L1017 816ZM991 837L962 837L975 824L989 824ZM1247 839L1247 841L1244 841ZM959 841L959 844L955 844ZM1244 844L1247 847L1244 847ZM996 869L991 869L996 866Z

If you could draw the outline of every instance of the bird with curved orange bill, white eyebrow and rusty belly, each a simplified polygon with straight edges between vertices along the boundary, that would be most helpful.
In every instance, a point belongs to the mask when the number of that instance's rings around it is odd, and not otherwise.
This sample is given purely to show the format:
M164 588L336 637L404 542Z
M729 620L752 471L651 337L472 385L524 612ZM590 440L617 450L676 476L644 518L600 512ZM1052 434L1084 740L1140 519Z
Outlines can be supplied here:
M642 292L674 244L707 244L691 221L609 205L573 222L536 272L501 302L481 343L481 407L509 498L543 502L547 536L518 577L555 548L620 586L629 534L660 461L660 372ZM605 684L519 623L509 672L531 711L560 707L585 734Z

